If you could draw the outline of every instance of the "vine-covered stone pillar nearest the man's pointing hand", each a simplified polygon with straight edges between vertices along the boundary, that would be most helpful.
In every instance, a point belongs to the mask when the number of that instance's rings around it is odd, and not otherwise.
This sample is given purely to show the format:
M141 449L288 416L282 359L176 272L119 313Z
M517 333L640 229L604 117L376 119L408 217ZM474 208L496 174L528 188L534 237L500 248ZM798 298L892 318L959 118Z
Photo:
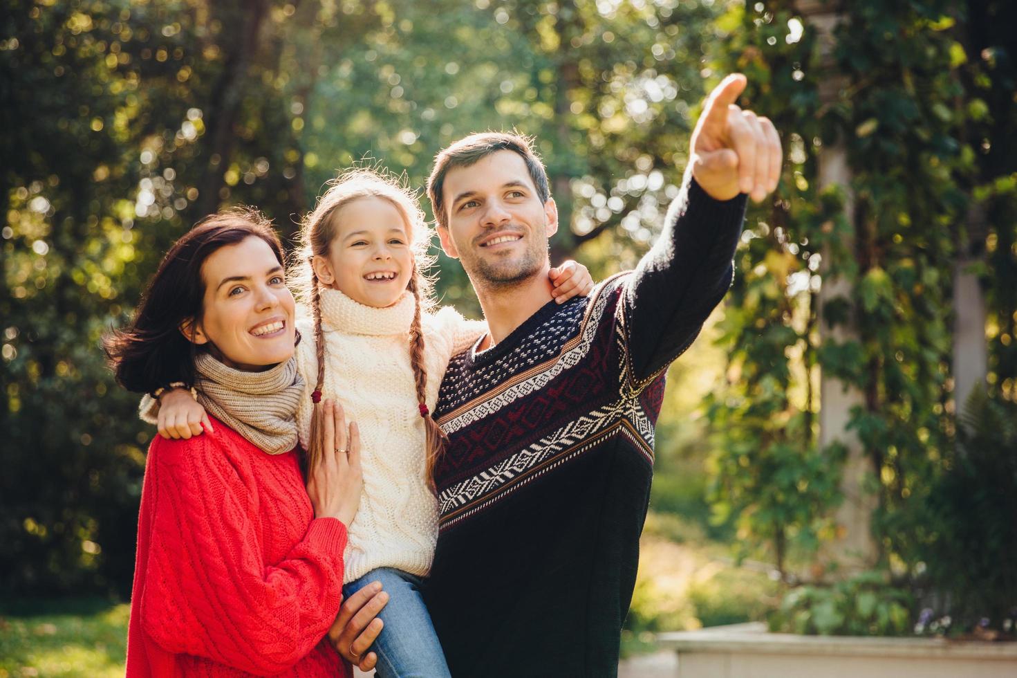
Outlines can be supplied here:
M839 20L840 3L824 0L799 0L796 7L801 12L805 30L817 31L822 54L820 97L824 102L836 100L845 84L845 78L836 71L831 56L834 45L833 30ZM847 164L847 151L842 140L825 146L819 157L819 185L841 186L847 192L845 216L853 223L854 205L850 194L851 170ZM835 268L830 267L829 257L823 252L820 268L823 286L819 293L819 327L823 340L837 342L857 339L857 331L850 323L830 327L823 321L823 308L832 299L854 300L850 282L840 277ZM878 498L866 491L872 483L873 464L865 454L861 442L853 431L847 430L852 407L864 407L861 391L841 380L823 374L820 382L820 446L838 442L847 448L847 459L841 478L844 501L838 508L835 519L837 538L824 546L820 553L815 574L824 576L836 562L833 576L840 578L863 569L871 568L877 558L878 549L872 533L873 511L878 506Z

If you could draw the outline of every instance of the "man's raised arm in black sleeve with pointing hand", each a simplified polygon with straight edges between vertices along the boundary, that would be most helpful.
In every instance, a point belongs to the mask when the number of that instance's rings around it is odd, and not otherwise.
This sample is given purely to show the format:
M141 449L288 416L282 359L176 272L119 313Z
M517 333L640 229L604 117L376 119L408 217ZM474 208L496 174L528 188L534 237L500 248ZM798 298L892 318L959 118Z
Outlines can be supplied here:
M690 144L681 194L664 230L625 282L622 313L633 377L642 382L680 354L727 293L745 199L777 187L783 159L769 119L735 105L745 76L710 94Z

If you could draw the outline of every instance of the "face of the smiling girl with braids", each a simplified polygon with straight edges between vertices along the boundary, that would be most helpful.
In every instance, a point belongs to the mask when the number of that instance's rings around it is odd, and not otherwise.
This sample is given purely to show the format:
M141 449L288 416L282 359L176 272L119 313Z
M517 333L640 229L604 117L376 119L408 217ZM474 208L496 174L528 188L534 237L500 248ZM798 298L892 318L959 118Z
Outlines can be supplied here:
M354 301L383 308L399 300L413 276L403 215L380 197L358 197L332 216L328 256L314 256L318 280Z

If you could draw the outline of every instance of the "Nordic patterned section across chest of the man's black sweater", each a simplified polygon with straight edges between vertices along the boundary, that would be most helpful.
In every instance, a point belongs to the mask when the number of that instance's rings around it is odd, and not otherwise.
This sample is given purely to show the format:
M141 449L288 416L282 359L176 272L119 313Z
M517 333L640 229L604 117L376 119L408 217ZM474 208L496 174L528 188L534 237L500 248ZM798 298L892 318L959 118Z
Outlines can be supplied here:
M477 364L472 359L474 347L450 362L439 395L439 422L450 436L462 432L464 447L472 448L473 454L448 455L442 464L438 494L442 530L591 449L607 436L625 435L652 465L654 425L663 383L660 379L661 388L653 390L644 404L643 390L660 375L636 384L625 369L627 343L623 328L614 333L612 326L620 283L626 275L605 280L588 299L576 299L560 310L546 306L547 312L556 313L536 328L528 341L515 345L496 361ZM613 334L609 342L604 341L605 334ZM573 370L580 374L567 374ZM601 379L607 383L595 388L594 381ZM558 382L552 385L555 380ZM491 388L493 385L496 388ZM600 402L589 402L591 391L612 393L614 397L606 402L602 398ZM498 435L502 428L499 410L527 397L532 402L523 404L521 412L508 412L508 417L533 420L535 417L526 410L536 414L550 408L560 412L560 426L550 431L516 428L511 440ZM471 426L477 429L463 431ZM479 458L485 459L487 465L477 473L473 463ZM456 482L458 468L469 470L466 477Z

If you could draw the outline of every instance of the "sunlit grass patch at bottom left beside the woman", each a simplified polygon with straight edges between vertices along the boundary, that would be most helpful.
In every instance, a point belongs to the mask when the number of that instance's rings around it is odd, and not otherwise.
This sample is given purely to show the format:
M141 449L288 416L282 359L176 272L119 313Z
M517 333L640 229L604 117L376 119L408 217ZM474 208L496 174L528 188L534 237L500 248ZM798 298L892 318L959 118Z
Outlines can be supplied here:
M0 678L123 676L126 604L26 601L0 611Z

